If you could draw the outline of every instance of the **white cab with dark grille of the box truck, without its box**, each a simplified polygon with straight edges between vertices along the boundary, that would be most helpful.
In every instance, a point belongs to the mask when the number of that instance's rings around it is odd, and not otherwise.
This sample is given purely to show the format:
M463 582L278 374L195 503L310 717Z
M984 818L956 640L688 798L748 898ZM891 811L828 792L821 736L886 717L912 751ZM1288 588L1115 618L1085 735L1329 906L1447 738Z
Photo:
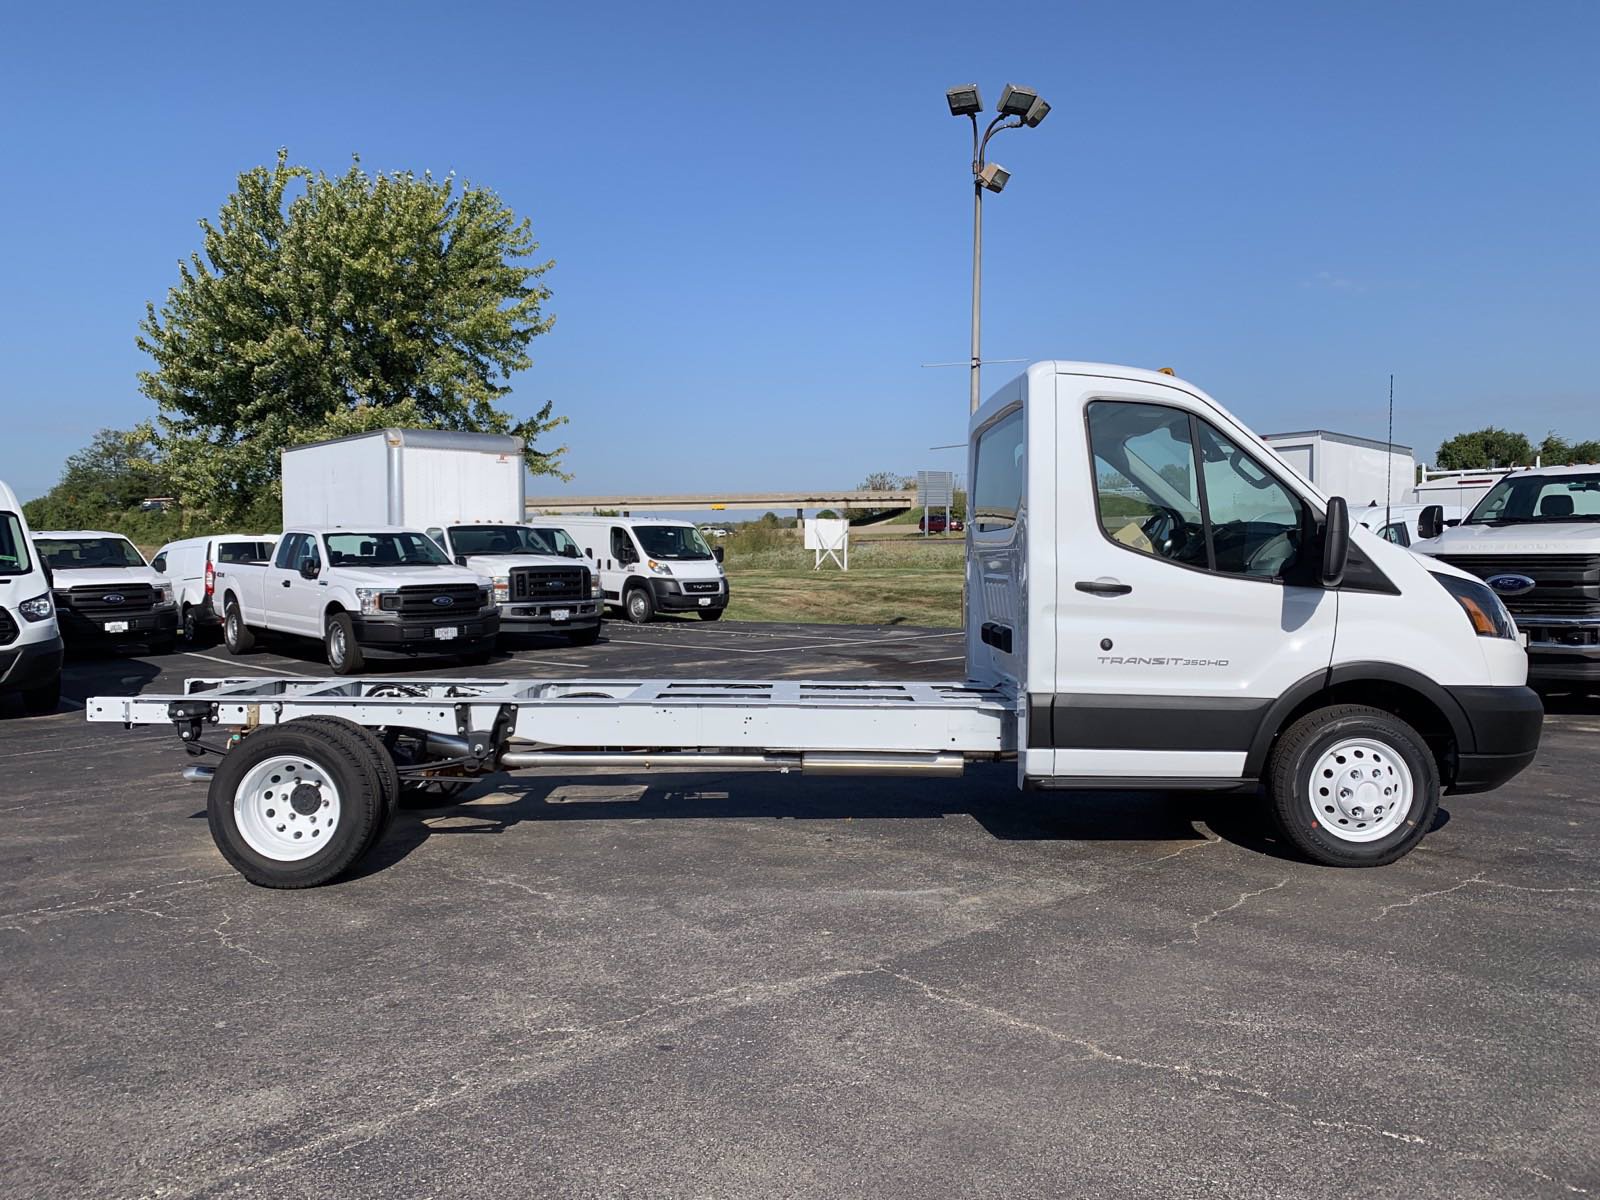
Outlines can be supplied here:
M494 586L502 634L565 634L574 643L600 637L594 571L566 530L464 522L435 525L427 536Z

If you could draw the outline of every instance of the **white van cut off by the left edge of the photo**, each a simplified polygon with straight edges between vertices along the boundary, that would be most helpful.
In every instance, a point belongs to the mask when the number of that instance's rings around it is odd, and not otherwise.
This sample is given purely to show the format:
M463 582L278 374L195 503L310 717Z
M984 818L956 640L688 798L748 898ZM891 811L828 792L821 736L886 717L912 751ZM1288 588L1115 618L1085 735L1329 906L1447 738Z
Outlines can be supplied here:
M61 629L50 573L34 549L22 506L0 482L0 698L19 696L26 712L61 702Z

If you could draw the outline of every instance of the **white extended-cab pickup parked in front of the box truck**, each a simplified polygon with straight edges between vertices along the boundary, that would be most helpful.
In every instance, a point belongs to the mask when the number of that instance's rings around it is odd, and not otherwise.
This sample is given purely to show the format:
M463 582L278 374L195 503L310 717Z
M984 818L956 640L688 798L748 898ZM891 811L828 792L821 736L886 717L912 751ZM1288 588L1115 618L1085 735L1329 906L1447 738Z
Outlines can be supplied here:
M499 632L490 582L418 530L285 530L270 562L227 563L214 587L230 654L248 654L256 634L309 637L336 675L370 653L482 664Z

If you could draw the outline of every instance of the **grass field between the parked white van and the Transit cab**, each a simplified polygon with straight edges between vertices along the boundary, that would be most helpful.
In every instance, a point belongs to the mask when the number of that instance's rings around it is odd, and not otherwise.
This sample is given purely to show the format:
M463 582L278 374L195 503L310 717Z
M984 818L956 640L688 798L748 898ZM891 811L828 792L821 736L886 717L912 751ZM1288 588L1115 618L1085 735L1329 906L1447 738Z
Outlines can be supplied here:
M741 546L730 539L730 621L811 621L874 626L962 624L960 538L856 541L850 571L830 560L811 570L814 555L794 531L771 544Z

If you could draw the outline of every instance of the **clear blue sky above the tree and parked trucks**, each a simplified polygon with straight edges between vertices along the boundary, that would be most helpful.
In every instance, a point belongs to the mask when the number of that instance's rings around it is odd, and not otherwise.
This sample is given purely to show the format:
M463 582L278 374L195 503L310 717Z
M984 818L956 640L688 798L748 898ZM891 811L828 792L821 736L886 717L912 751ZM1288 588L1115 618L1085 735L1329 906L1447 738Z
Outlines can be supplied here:
M986 16L987 14L987 16ZM570 493L958 467L968 133L986 355L1174 366L1258 430L1600 435L1600 8L34 5L0 48L0 478L150 414L134 333L238 171L454 171L533 219L510 406ZM992 366L998 386L1008 370ZM986 387L987 390L987 387ZM554 490L554 488L552 488Z

